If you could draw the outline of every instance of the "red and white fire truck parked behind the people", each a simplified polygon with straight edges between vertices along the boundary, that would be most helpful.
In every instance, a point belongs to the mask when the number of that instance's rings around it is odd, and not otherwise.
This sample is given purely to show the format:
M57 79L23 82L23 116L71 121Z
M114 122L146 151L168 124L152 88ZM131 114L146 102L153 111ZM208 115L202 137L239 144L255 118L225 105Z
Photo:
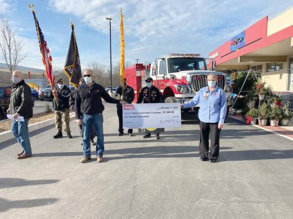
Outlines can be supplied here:
M227 104L233 104L232 89L226 85L225 74L208 69L206 59L200 54L169 54L166 58L157 58L152 64L134 64L125 69L128 84L134 88L136 102L140 89L146 86L144 80L152 77L165 102L184 103L193 98L200 88L208 86L207 75L218 76L217 85L226 91ZM199 106L186 109L197 111Z

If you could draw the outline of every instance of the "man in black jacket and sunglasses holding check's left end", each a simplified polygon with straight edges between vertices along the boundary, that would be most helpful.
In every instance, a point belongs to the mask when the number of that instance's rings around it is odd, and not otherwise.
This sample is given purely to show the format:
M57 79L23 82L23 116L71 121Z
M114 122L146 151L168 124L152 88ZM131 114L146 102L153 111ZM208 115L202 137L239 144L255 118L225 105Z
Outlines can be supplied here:
M75 116L78 125L83 126L83 158L81 163L91 159L90 130L94 124L97 132L96 154L97 161L103 161L104 133L103 133L103 111L105 109L102 98L109 103L125 104L125 101L116 100L107 93L99 84L93 81L93 71L86 69L83 72L85 84L79 86L75 95ZM82 120L81 120L82 118Z

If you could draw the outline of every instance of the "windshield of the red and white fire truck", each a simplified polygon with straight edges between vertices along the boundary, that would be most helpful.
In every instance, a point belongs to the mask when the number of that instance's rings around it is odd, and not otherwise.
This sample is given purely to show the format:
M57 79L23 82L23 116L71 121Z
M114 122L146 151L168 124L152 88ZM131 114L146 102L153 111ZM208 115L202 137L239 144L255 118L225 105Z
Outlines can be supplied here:
M208 70L206 61L203 58L180 57L168 59L169 73L184 70Z

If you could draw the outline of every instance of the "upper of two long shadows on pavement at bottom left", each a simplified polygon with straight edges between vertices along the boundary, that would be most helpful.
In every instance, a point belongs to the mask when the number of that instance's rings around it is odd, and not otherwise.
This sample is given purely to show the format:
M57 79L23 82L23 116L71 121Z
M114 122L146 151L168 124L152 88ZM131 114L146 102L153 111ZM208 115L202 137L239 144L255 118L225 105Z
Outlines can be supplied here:
M60 180L57 179L40 179L40 180L26 180L21 178L0 178L0 189L53 184Z

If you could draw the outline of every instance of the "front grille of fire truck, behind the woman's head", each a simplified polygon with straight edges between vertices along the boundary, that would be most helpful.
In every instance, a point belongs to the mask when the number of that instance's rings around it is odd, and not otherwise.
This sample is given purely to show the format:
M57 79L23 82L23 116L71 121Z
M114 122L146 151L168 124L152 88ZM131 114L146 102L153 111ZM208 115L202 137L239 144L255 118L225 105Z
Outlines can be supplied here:
M222 75L217 75L217 85L218 87L225 88L225 77ZM191 76L191 89L193 92L199 91L200 88L208 86L208 77L206 75L193 75Z

